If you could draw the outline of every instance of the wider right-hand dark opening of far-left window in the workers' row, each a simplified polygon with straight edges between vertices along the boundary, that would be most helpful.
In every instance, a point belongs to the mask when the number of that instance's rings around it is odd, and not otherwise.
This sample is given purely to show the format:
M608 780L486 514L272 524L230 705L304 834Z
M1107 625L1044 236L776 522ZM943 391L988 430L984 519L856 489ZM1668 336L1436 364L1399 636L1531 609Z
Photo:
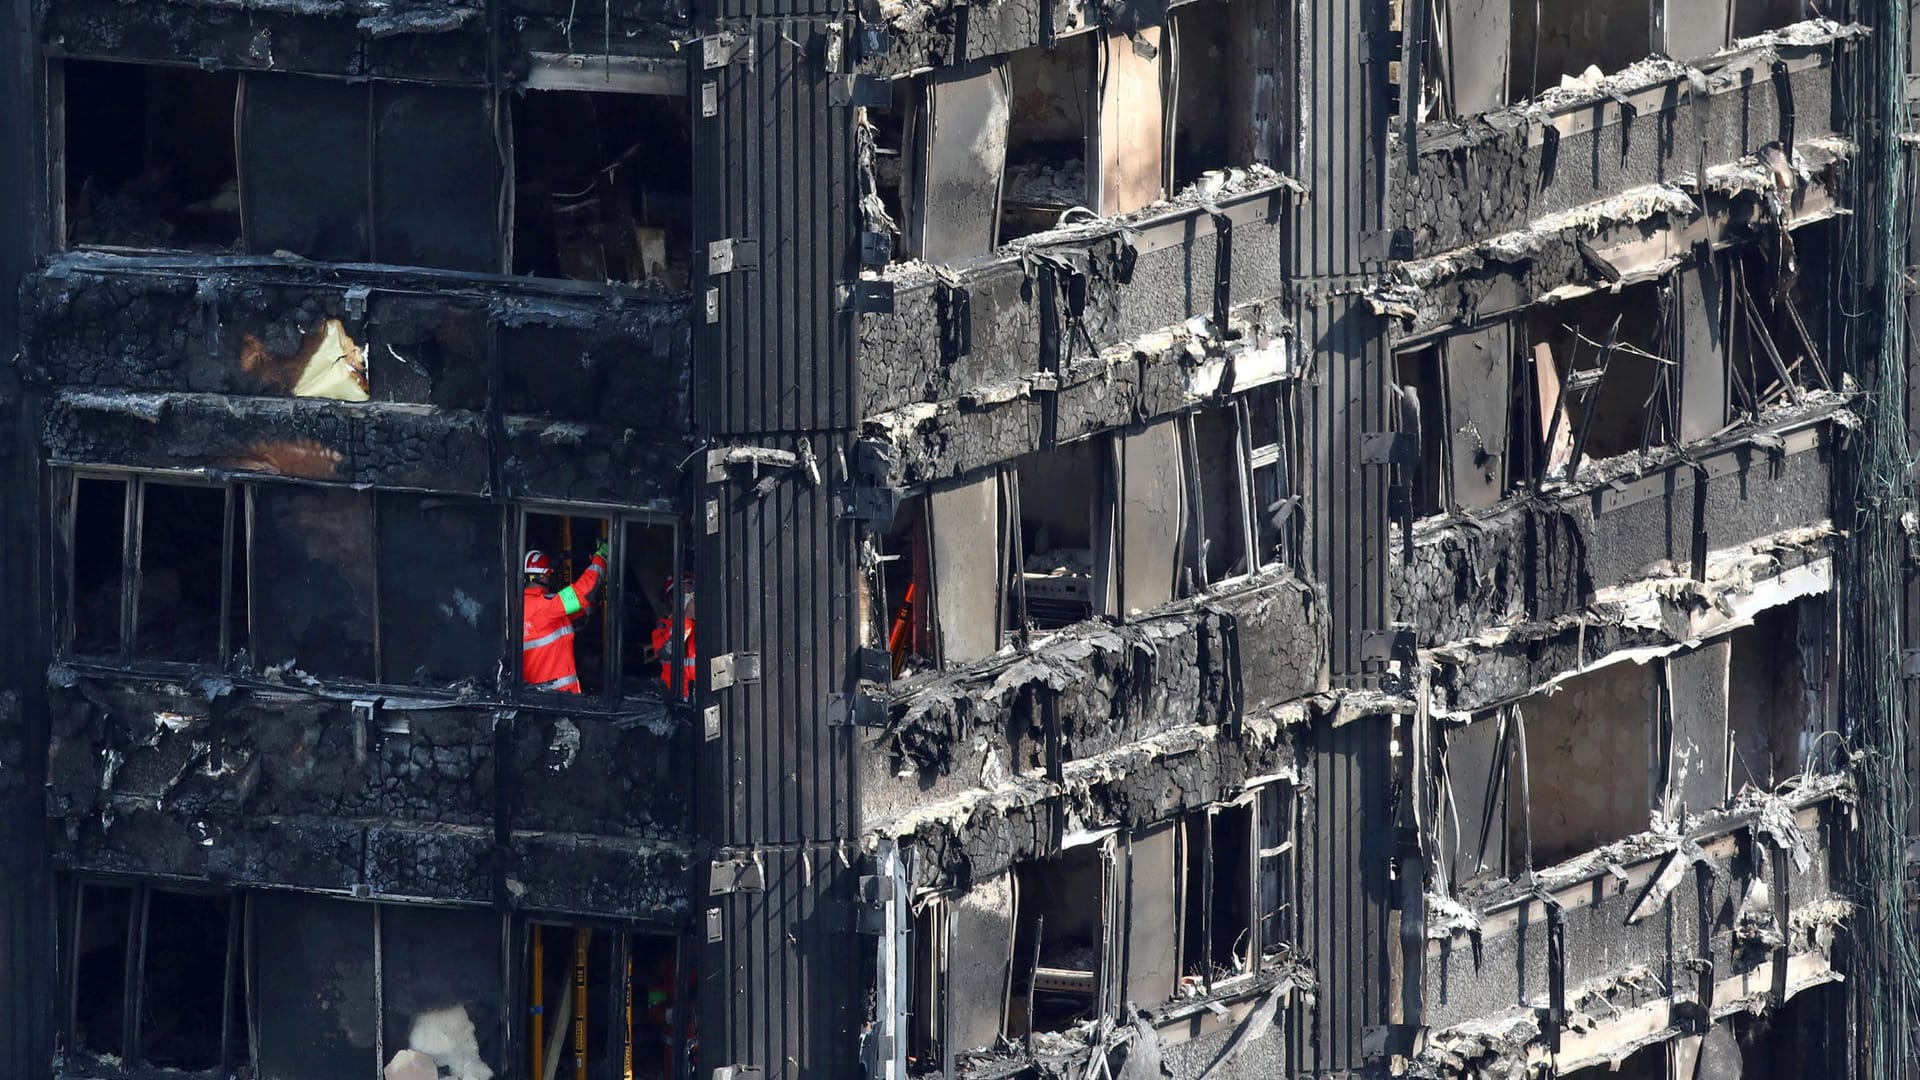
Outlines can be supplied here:
M140 484L136 655L219 661L225 538L225 488Z

